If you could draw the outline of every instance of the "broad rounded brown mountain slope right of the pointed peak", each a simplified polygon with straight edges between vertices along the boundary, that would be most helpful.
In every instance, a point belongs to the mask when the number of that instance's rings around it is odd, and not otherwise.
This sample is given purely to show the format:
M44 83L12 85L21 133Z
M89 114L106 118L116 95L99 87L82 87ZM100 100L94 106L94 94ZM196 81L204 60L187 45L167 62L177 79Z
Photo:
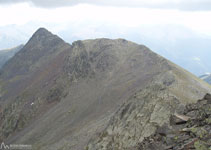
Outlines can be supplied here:
M34 149L43 150L83 149L91 137L104 130L106 134L99 136L100 140L96 137L97 143L95 138L91 140L89 149L105 149L111 145L112 139L115 139L115 145L119 145L117 149L121 149L125 146L125 139L131 136L124 131L134 134L126 129L124 122L128 122L130 129L135 126L141 131L145 129L146 123L139 125L131 114L142 114L146 116L145 120L149 120L151 115L147 116L148 112L153 114L150 118L158 117L155 122L162 124L178 103L194 102L210 90L204 82L145 46L122 39L77 41L44 64L38 67L39 71L30 74L33 80L27 84L25 93L20 93L23 100L19 101L21 105L17 104L17 112L21 115L14 117L11 111L3 119L8 125L15 121L25 124L14 128L17 132L11 132L13 136L7 140L10 143L28 143ZM140 95L139 98L133 100L134 94ZM171 97L164 105L162 100L167 98L162 96L166 94ZM33 97L32 106L31 101L28 102L30 97ZM139 99L146 101L145 105ZM137 107L130 107L127 103ZM26 107L20 107L23 104ZM161 106L163 109L171 106L171 109L164 111ZM153 108L157 109L154 111ZM130 109L134 112L128 112ZM7 121L7 117L13 122ZM114 121L109 121L111 118ZM153 132L154 126L148 125ZM106 130L113 128L118 130L107 134ZM117 133L123 134L118 140ZM143 138L142 132L137 133L137 137L125 144L133 146Z

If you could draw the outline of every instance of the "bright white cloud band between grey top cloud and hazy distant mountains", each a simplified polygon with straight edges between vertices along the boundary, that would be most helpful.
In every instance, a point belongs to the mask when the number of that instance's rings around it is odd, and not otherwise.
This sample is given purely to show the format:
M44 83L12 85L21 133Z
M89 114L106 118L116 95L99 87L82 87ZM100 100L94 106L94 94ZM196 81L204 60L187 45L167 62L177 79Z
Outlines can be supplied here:
M152 2L152 1L151 1ZM181 25L201 34L211 35L211 11L192 12L170 9L129 7L104 7L81 4L71 7L44 9L28 3L0 6L0 26L28 22L57 24L57 28L69 25L100 24L134 28L151 25ZM174 31L172 31L174 32Z

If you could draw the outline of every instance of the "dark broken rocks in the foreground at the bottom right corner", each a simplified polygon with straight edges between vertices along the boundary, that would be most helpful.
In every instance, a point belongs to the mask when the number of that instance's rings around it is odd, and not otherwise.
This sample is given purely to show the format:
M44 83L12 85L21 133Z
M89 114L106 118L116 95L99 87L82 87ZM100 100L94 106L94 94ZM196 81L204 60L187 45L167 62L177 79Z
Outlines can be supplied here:
M211 150L211 95L174 114L170 127L163 125L139 143L139 150Z

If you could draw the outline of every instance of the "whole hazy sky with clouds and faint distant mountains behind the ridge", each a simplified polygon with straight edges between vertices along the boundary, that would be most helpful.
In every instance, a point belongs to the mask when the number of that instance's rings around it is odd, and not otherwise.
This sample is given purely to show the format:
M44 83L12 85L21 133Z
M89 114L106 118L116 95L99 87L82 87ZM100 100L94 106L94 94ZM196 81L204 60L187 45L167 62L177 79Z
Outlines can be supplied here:
M192 51L191 63L211 71L200 62L211 46L210 0L0 0L0 18L0 49L46 27L67 42L126 38L171 60Z

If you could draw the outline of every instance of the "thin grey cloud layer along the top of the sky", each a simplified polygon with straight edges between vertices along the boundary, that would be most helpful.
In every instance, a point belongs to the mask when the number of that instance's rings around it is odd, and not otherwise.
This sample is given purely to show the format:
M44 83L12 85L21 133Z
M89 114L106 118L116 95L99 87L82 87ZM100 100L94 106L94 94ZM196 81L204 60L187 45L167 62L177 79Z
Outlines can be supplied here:
M40 7L62 7L78 4L124 6L180 10L211 10L210 0L0 0L2 4L29 2Z

